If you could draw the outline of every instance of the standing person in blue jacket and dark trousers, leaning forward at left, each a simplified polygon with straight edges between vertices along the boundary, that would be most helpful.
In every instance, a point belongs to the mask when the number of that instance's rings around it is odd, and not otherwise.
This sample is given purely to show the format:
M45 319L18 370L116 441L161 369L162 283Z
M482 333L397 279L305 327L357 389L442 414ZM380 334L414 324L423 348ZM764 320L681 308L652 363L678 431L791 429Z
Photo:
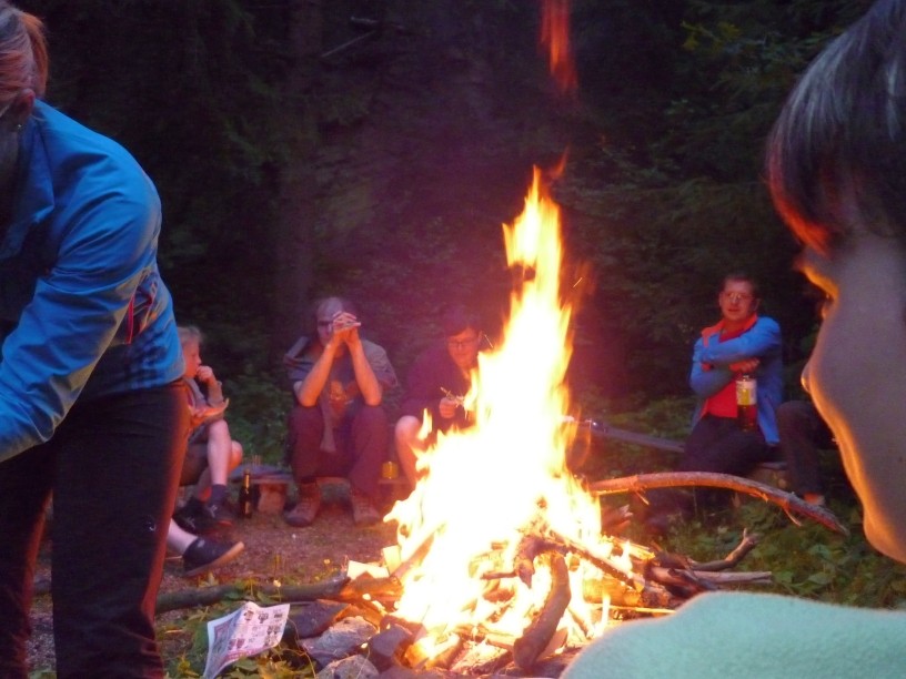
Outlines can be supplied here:
M0 0L0 676L28 673L52 495L58 676L162 677L188 411L160 200L122 146L42 101L48 67L41 21Z

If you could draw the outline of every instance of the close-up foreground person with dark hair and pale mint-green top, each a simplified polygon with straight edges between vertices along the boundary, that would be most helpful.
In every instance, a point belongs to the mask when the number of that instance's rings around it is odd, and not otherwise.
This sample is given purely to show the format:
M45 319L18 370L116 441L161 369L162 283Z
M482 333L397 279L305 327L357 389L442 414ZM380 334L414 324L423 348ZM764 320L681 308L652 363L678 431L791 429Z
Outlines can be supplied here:
M826 295L802 381L868 541L906 563L906 0L880 0L812 62L768 138L774 204ZM870 342L870 348L866 347ZM898 677L906 612L704 594L611 627L564 679Z

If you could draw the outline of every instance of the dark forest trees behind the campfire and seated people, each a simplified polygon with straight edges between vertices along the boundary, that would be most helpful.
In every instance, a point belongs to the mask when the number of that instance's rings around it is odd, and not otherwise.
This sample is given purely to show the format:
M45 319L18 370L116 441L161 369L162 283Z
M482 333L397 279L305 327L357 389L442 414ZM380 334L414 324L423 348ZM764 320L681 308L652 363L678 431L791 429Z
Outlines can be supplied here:
M246 418L279 427L280 358L322 294L358 302L401 375L446 301L497 333L501 224L532 166L564 153L574 391L686 394L692 342L736 270L762 282L795 388L814 300L763 184L763 143L865 1L574 0L566 98L535 0L19 6L48 24L49 101L155 181L179 321L205 332Z

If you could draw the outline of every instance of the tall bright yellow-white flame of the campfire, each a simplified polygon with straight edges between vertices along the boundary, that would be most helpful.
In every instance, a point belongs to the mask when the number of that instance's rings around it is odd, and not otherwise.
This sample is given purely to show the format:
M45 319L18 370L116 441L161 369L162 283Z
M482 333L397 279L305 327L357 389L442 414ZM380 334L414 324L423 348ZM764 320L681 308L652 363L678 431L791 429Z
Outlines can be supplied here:
M601 514L566 468L574 430L564 426L571 356L568 305L561 302L560 213L541 174L512 226L504 225L507 261L521 278L511 297L505 336L479 356L466 404L475 425L441 436L419 462L423 476L386 520L399 523L403 596L396 615L429 636L462 626L519 635L546 594L516 578L505 611L483 598L482 575L506 568L523 531L547 526L577 541L600 545ZM504 554L503 563L490 555ZM575 571L574 578L583 574ZM581 582L572 587L582 591ZM581 599L581 597L578 597ZM430 650L426 651L430 655Z

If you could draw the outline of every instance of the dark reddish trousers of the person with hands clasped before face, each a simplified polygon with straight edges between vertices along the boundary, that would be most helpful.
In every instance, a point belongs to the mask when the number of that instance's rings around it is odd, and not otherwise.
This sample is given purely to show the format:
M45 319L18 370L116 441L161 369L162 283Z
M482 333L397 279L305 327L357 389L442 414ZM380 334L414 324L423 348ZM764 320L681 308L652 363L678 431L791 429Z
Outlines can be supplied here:
M299 484L319 476L345 476L353 488L378 496L381 464L386 459L390 430L381 406L361 406L333 430L335 452L321 449L321 408L296 405L290 412L288 454Z

